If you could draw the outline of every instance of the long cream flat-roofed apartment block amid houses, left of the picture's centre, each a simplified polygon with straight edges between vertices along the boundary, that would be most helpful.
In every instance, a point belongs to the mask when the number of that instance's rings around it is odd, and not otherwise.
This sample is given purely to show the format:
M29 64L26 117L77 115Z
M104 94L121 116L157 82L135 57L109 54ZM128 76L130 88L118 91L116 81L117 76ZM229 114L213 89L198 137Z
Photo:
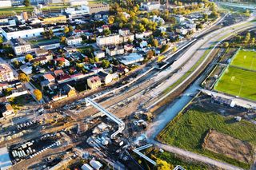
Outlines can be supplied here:
M117 45L120 44L120 36L118 34L111 34L109 36L100 36L96 38L96 43L98 46L102 45Z

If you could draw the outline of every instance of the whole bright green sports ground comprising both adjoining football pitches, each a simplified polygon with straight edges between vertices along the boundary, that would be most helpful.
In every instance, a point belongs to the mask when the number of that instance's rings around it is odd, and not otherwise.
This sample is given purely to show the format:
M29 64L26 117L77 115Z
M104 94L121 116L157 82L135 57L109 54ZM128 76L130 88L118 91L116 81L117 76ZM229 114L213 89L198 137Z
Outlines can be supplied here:
M214 85L214 89L256 101L256 58L254 64L254 56L256 57L254 51L240 50Z

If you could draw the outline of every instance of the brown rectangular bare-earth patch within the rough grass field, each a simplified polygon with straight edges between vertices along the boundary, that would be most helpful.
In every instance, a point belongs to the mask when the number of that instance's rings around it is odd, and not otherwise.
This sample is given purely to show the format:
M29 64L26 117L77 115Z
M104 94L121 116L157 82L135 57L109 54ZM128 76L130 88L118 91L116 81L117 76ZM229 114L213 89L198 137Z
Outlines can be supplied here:
M202 147L241 162L252 163L254 160L254 148L251 144L215 130L207 133Z

